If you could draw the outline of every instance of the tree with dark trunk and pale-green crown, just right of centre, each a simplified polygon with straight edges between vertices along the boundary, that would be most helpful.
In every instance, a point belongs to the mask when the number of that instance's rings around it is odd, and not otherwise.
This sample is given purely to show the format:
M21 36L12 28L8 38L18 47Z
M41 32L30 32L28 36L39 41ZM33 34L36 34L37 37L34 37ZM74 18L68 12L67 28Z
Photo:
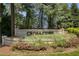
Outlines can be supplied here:
M56 4L45 4L44 5L44 12L48 16L48 28L54 28L54 16L56 13L55 10Z

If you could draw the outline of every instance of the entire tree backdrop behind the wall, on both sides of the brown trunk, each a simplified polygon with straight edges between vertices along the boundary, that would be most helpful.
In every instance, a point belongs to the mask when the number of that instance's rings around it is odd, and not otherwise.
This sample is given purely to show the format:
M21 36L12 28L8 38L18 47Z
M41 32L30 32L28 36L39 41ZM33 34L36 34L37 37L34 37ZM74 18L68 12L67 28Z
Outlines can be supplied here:
M79 8L72 3L19 3L15 6L15 25L17 28L68 28L79 27ZM11 30L10 4L3 4L2 29L3 34ZM75 21L76 20L76 21ZM5 23L5 24L4 24ZM10 34L10 33L9 33Z

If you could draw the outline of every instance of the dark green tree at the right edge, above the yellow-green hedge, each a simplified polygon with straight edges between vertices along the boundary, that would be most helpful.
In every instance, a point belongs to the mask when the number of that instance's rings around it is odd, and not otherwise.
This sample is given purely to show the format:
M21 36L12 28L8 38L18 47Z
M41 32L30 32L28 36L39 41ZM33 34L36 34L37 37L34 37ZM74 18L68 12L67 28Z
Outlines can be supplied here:
M79 27L79 9L76 3L71 4L71 15L73 20L73 27Z

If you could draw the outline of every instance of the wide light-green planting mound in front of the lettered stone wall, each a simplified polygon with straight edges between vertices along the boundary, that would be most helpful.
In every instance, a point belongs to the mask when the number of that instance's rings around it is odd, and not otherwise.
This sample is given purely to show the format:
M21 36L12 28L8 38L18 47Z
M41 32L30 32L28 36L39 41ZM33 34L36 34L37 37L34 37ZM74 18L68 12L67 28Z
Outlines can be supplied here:
M32 35L25 38L25 41L36 46L52 46L68 47L68 42L76 38L74 34L47 34L47 35Z

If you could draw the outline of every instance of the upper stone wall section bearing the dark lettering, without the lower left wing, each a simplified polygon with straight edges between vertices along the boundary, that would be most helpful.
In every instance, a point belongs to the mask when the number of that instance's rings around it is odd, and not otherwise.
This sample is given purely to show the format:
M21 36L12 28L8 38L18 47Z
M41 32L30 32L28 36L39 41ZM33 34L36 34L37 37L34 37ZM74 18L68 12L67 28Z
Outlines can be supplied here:
M25 37L27 36L29 33L32 34L42 34L42 33L58 33L60 32L60 30L58 29L15 29L15 35L18 37Z

